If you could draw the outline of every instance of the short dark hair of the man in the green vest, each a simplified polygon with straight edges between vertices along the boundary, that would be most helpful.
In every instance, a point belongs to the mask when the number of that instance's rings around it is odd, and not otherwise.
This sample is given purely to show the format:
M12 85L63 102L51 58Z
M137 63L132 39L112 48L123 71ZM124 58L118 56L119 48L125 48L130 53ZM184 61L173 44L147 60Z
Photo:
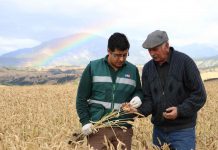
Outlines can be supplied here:
M115 49L118 49L120 51L124 51L129 49L130 44L125 34L123 33L114 33L110 36L108 39L108 49L112 52L115 51Z

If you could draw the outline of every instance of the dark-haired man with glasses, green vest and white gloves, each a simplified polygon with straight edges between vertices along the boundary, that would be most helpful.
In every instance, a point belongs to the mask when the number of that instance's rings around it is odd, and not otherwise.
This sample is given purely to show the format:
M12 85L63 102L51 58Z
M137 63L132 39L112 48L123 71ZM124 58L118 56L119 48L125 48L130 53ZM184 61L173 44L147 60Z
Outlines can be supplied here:
M123 148L131 149L133 131L130 125L126 125L126 132L116 127L113 130L102 128L93 134L90 122L100 120L114 109L119 110L122 103L130 102L134 108L141 105L142 90L138 69L126 61L129 47L124 34L114 33L108 40L108 55L91 61L82 74L76 109L83 126L82 132L88 136L88 142L94 149L105 148L104 135L115 148L118 138L125 144Z

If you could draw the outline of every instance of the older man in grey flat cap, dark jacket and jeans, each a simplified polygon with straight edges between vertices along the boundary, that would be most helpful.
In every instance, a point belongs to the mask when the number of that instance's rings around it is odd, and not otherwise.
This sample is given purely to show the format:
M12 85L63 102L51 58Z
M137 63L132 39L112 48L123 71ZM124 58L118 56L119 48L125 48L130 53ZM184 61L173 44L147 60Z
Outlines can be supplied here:
M143 68L144 101L138 111L152 114L153 143L194 150L197 111L206 101L199 70L189 56L169 46L165 31L150 33L142 46L153 59Z

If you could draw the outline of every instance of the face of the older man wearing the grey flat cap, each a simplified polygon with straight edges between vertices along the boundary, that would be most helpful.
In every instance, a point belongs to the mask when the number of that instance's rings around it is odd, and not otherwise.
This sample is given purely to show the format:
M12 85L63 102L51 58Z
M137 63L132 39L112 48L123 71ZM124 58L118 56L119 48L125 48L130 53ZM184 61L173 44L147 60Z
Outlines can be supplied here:
M169 44L163 43L160 46L148 49L148 52L155 62L163 64L167 61L169 55Z

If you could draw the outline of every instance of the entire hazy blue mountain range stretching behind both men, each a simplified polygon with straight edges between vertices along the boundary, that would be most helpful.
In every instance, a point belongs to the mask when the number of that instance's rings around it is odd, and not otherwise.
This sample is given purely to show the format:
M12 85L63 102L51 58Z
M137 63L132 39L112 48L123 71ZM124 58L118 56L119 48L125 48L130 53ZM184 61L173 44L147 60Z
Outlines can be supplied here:
M0 67L54 67L54 66L85 66L91 60L102 58L107 54L107 40L104 37L78 33L68 37L43 42L33 48L23 48L0 56ZM143 41L130 40L128 61L143 65L150 56L142 48ZM192 44L175 47L194 59L208 58L218 55L216 48ZM207 61L207 66L213 61ZM202 65L202 64L201 64Z

